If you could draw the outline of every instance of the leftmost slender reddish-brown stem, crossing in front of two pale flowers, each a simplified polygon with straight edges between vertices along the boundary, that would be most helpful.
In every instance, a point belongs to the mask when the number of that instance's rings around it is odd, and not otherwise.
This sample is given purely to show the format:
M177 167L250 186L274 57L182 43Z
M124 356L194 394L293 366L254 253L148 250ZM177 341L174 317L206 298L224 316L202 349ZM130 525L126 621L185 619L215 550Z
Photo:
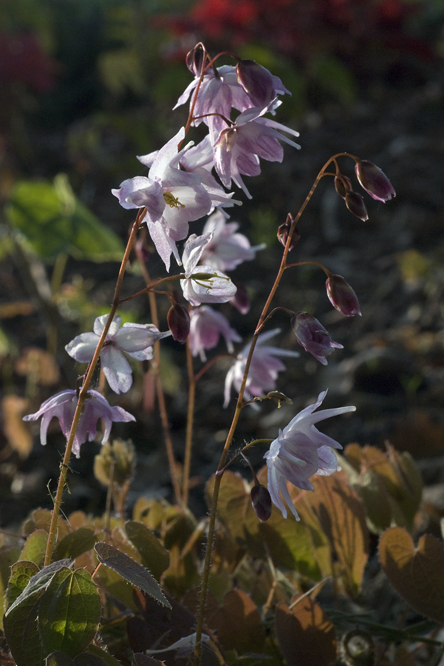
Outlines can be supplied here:
M122 282L123 282L123 277L125 275L125 270L126 266L128 264L128 260L130 257L130 253L132 250L132 247L134 245L134 241L136 239L137 231L142 223L142 220L145 215L145 209L140 209L137 213L136 220L133 224L133 227L131 229L131 234L128 239L128 244L125 249L125 254L123 255L122 263L120 265L120 270L119 270L119 275L117 277L117 282L116 282L116 288L114 291L114 298L113 298L113 303L111 306L111 312L108 315L108 320L105 324L105 327L102 331L102 335L100 336L99 342L97 344L96 351L94 352L94 356L88 366L88 370L85 374L85 378L83 380L83 385L82 388L80 389L78 401L77 401L77 407L76 411L74 413L74 418L72 421L71 425L71 430L68 435L68 439L66 441L66 447L65 447L65 453L63 456L63 461L60 465L60 476L59 476L59 481L57 484L57 491L54 499L54 508L52 511L52 516L51 516L51 524L49 527L49 534L48 534L48 542L46 544L46 553L45 553L45 562L44 566L47 566L51 562L52 558L52 551L54 549L54 543L56 540L56 535L57 535L57 523L59 519L59 514L60 514L60 507L62 506L62 497L63 497L63 490L65 488L65 480L66 480L66 472L68 471L68 465L69 465L69 460L71 458L71 452L72 452L72 446L74 443L74 438L77 432L77 427L79 425L80 417L82 414L82 409L83 405L85 403L85 400L87 399L88 395L88 389L91 384L91 380L94 374L94 370L96 368L97 362L99 360L100 352L102 350L103 344L106 340L106 336L109 330L109 327L111 326L111 322L113 320L114 315L116 314L117 307L119 304L119 295L120 295L120 290L122 288Z

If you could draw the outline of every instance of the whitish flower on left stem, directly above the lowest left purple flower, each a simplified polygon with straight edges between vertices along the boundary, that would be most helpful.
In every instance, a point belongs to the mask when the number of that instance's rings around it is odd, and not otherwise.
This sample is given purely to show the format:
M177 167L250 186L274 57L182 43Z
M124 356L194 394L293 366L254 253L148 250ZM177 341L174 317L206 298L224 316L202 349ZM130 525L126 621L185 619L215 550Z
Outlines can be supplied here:
M108 315L97 317L93 333L82 333L66 345L65 349L79 363L89 363L94 356ZM131 366L124 354L136 361L149 361L153 358L153 345L157 340L171 335L161 333L153 324L123 324L120 315L114 315L100 352L102 370L108 384L115 393L126 393L133 383Z

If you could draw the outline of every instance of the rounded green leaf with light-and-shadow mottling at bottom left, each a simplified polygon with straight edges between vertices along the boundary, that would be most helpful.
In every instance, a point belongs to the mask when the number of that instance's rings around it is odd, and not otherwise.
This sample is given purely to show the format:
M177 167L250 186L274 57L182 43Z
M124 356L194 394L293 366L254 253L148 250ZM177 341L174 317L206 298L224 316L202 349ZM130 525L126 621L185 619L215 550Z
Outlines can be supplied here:
M60 650L70 657L82 652L99 627L99 590L85 569L60 569L40 602L39 629L46 652Z

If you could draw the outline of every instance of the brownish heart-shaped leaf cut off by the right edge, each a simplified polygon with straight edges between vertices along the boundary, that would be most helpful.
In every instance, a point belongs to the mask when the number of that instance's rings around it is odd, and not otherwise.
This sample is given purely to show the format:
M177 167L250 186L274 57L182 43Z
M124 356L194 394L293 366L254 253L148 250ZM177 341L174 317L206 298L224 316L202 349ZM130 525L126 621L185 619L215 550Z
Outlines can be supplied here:
M444 547L424 534L417 548L403 527L392 527L379 540L379 559L387 578L418 613L444 624Z

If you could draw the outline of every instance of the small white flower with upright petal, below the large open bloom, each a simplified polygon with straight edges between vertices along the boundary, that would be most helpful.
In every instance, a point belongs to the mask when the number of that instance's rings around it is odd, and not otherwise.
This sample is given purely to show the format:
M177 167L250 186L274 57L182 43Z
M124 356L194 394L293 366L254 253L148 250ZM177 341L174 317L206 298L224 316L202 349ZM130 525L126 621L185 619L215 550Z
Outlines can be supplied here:
M236 287L227 275L212 266L197 265L211 237L211 234L192 234L185 243L182 255L185 279L180 281L180 286L191 305L227 303L236 293Z

